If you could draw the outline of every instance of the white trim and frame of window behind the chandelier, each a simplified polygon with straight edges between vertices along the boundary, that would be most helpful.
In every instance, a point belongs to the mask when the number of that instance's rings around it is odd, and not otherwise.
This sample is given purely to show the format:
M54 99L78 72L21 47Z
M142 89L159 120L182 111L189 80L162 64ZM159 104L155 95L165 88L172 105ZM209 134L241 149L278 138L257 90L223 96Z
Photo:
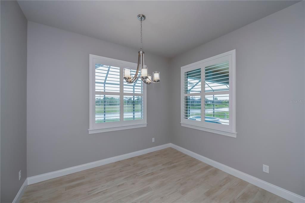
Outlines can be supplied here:
M120 95L120 112L124 112L124 105L121 104L124 96L130 95L130 93L124 93L124 68L129 67L137 69L136 63L121 61L117 59L106 58L98 55L89 54L89 134L110 132L116 130L126 130L132 128L142 128L147 126L146 120L146 85L143 84L143 119L127 120L123 121L123 116L120 115L120 121L109 122L107 126L96 126L95 124L95 60L101 62L101 64L111 64L111 66L120 67L120 92L116 93ZM102 93L102 92L99 92Z

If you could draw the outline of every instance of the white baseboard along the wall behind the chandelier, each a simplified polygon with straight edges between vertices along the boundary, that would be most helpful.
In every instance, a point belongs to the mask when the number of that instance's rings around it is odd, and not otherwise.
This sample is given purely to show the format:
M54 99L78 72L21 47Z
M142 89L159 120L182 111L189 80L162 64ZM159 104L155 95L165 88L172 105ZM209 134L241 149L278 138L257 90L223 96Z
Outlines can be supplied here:
M86 163L86 164L79 165L79 166L74 166L74 167L70 167L70 168L66 168L66 169L62 169L62 170L58 170L58 171L54 171L54 172L50 172L50 173L44 173L44 174L41 174L41 175L28 177L27 178L27 184L30 185L30 184L38 183L38 182L41 182L41 181L49 180L49 179L52 179L52 178L65 176L65 175L68 175L68 174L71 174L71 173L95 168L95 167L98 167L98 166L102 166L102 165L106 165L106 164L109 164L109 163L121 161L121 160L124 160L124 159L127 159L127 158L132 158L132 157L135 157L135 156L147 154L147 153L150 153L150 152L153 152L153 151L158 151L158 150L169 148L169 147L170 147L170 143L163 144L163 145L159 145L159 146L156 146L156 147L143 149L143 150L140 150L140 151L135 151L135 152L131 152L131 153L128 153L128 154L123 154L123 155L119 155L119 156L115 156L115 157L111 157L111 158L106 158L106 159L102 159L102 160L91 162L91 163Z

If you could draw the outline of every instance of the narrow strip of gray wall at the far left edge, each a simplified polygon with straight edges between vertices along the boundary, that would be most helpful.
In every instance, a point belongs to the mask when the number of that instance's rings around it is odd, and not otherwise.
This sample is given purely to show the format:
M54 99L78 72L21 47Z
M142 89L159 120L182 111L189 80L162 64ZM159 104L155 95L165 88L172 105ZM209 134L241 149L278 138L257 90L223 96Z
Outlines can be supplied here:
M12 202L27 177L27 19L16 1L1 1L0 75L1 202Z

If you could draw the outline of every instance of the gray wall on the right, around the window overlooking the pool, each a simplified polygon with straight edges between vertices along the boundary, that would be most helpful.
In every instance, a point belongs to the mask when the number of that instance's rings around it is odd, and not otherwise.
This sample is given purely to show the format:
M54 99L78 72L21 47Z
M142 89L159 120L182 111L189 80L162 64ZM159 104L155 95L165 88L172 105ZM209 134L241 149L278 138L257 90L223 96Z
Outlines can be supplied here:
M171 80L171 142L305 196L304 2L175 57L180 67L236 49L237 138L180 125L180 80ZM262 165L270 173L262 172Z

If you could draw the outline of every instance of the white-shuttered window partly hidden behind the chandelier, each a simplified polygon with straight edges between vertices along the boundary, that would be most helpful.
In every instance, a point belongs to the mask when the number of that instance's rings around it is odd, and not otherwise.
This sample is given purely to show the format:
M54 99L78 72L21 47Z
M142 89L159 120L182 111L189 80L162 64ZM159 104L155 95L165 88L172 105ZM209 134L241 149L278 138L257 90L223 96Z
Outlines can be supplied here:
M128 84L124 68L135 73L137 64L89 55L89 134L145 127L146 86ZM141 74L141 72L139 72Z

